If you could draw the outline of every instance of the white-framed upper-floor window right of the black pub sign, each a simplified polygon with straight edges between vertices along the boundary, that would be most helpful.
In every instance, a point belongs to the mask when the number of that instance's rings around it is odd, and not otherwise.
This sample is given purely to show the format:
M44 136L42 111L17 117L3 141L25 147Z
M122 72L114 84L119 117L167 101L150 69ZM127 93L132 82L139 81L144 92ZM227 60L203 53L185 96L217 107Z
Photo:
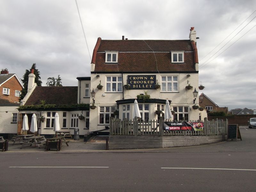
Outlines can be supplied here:
M162 92L178 92L178 76L161 76Z

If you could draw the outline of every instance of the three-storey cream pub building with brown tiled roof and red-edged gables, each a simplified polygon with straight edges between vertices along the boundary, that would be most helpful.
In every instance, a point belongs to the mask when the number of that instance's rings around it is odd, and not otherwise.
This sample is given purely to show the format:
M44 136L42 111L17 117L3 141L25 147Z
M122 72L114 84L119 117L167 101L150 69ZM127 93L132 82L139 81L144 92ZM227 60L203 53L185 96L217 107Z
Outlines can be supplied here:
M109 126L110 117L132 119L137 99L141 118L164 116L166 99L171 120L198 120L198 56L196 31L188 40L97 40L92 55L90 132ZM140 98L140 99L139 99ZM162 110L161 115L156 110ZM206 113L200 118L204 119Z

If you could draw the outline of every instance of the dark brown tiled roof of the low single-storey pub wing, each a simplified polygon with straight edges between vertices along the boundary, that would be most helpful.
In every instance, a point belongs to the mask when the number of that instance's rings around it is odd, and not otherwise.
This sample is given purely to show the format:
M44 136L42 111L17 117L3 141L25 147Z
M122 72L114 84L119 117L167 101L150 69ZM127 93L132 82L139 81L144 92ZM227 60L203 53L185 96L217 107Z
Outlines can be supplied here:
M40 100L46 104L70 105L77 103L77 86L42 87L37 86L25 105L40 105Z

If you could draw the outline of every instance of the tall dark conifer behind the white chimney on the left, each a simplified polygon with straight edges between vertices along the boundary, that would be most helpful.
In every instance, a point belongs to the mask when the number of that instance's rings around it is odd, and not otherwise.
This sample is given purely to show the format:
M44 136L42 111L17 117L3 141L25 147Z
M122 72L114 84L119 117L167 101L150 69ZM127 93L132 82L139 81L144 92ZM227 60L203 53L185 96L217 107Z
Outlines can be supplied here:
M24 88L21 90L20 100L22 100L28 93L28 75L31 73L31 69L34 69L34 74L36 76L36 78L35 78L36 85L42 86L42 81L40 80L41 79L40 71L38 71L38 69L36 69L36 63L33 63L30 70L26 69L25 74L23 75L23 79L21 79Z

